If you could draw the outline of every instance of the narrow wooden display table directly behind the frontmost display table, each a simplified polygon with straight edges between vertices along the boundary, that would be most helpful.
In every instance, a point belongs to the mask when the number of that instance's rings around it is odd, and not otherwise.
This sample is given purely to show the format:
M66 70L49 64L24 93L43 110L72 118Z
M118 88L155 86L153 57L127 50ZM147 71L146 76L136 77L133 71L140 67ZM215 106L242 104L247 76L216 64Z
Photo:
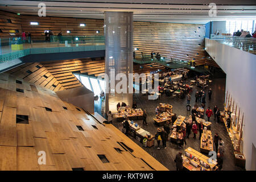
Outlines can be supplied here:
M210 130L203 131L200 143L200 151L206 154L209 154L210 151L213 151L213 139L212 132Z

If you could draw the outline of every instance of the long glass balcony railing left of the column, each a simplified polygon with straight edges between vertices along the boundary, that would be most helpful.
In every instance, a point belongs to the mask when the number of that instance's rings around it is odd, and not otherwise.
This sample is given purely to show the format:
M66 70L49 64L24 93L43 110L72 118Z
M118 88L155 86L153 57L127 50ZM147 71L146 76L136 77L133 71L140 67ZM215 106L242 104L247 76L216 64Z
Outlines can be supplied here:
M0 38L0 63L33 53L105 49L105 36L49 36Z

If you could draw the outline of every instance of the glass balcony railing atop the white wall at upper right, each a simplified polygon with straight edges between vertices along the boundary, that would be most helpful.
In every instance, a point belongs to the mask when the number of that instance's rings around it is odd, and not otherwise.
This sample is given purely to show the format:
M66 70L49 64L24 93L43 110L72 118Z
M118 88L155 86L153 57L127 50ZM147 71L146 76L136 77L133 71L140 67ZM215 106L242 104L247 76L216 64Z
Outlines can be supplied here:
M211 35L210 39L217 42L250 52L256 55L256 38L245 38L241 36Z

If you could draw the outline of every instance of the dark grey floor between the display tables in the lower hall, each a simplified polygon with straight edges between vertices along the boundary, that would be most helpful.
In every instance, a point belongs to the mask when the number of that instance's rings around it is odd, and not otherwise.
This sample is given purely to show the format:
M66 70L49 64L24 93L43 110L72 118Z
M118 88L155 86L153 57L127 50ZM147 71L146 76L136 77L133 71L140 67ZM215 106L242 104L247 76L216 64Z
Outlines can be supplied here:
M212 109L214 105L217 105L220 110L224 110L224 97L225 97L225 78L214 78L213 82L210 85L210 88L213 90L212 94L212 100L209 101L208 95L205 99L206 104L205 106L210 106ZM200 90L200 88L197 88L196 86L193 87L193 92L191 94L191 105L195 104L195 90ZM208 93L208 89L205 90L206 93ZM156 126L153 118L155 118L155 107L159 105L159 103L168 103L173 106L173 112L177 115L187 115L186 105L187 100L180 99L180 98L172 98L167 97L165 94L160 97L159 100L148 100L147 96L142 96L142 94L134 94L134 101L137 102L138 108L146 109L147 111L147 123L148 126L142 125L142 120L136 121L139 123L139 125L144 129L150 132L151 134L155 134L156 128L159 126ZM213 117L214 118L214 117ZM228 136L228 133L225 129L224 123L216 123L213 121L213 118L210 119L212 122L211 131L212 134L218 133L218 135L224 140L225 142L225 156L224 156L224 164L222 170L230 170L230 171L238 171L242 170L242 168L235 166L234 164L234 154L233 154L233 146L230 141L230 138ZM207 119L205 117L205 119ZM122 130L122 123L114 121L114 126L116 126L119 130ZM160 148L160 150L156 149L156 141L155 146L153 147L143 147L142 143L138 142L133 137L130 137L134 142L136 142L139 146L141 146L144 150L148 152L148 154L154 156L155 159L157 159L160 163L162 163L164 166L166 166L170 170L176 170L174 159L178 151L184 152L185 148L192 147L197 151L200 151L200 140L199 140L199 134L197 134L196 140L189 137L189 139L186 139L187 145L183 148L179 149L177 148L177 145L171 142L167 142L167 148L164 150L163 147ZM162 143L161 143L162 146Z

